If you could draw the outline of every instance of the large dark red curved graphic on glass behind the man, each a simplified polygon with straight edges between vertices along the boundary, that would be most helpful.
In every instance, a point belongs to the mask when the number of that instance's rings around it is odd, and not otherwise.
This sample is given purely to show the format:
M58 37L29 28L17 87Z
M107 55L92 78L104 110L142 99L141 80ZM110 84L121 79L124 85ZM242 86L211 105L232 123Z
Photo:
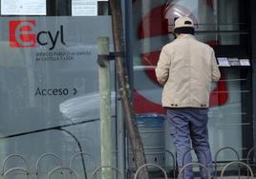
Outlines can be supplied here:
M136 1L134 1L135 3ZM213 9L214 0L207 0L207 5L209 8ZM197 27L198 21L194 15L184 7L181 7L178 4L170 4L168 7L166 5L161 5L150 10L145 16L142 17L141 22L139 23L138 28L138 39L152 38L154 36L164 36L173 31L173 20L177 17L177 13L180 13L180 16L190 16ZM157 42L155 42L157 43ZM210 46L217 46L219 43L215 40L208 40L206 42ZM160 50L153 50L147 53L141 53L140 59L143 66L157 66L160 56ZM145 69L149 80L158 84L155 70ZM223 75L223 74L222 74ZM222 80L219 81L215 89L210 94L210 107L222 106L228 100L228 90L226 87L226 82L224 81L224 76ZM164 113L164 109L160 104L157 104L146 97L143 96L143 93L136 90L134 93L134 107L136 113Z

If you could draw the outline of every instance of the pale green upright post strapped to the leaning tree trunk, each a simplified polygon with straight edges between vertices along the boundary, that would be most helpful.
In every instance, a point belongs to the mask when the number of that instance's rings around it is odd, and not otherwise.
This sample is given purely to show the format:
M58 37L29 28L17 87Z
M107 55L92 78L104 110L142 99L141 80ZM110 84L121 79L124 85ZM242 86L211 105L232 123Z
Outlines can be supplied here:
M109 55L109 38L98 37L97 54ZM99 63L99 93L100 93L100 144L101 166L112 167L112 119L111 119L111 85L110 85L110 62L102 60ZM113 179L111 169L102 169L102 179Z

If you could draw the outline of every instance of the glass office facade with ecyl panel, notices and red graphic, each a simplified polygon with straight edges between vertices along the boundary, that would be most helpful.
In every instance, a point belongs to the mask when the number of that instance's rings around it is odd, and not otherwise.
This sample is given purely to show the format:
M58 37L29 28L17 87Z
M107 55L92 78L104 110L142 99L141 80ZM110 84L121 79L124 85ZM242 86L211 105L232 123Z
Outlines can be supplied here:
M68 166L89 177L101 165L96 39L108 36L113 50L108 4L96 0L1 0L3 174L22 167L39 169L46 178L54 167ZM154 71L162 46L174 39L174 18L184 15L194 20L196 38L213 47L222 72L210 96L212 153L218 163L237 158L246 161L256 139L254 7L253 0L122 1L125 60L135 112L138 120L152 120L139 126L148 161L167 169L174 167L166 154L175 149L164 120L160 121L165 111ZM111 88L113 166L132 170L114 62ZM158 125L152 126L156 121ZM157 130L160 132L154 134ZM156 141L150 141L151 137ZM224 150L218 153L220 149ZM253 152L249 159L254 161Z

